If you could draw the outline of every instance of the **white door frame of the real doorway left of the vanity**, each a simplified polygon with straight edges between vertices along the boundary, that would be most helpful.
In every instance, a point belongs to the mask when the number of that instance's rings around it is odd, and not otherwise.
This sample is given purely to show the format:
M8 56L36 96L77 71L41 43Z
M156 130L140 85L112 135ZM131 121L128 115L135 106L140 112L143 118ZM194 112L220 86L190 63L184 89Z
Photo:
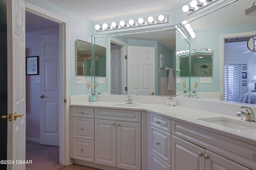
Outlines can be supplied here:
M70 164L70 119L69 119L69 20L47 11L43 8L30 4L26 1L25 10L34 15L59 23L59 42L60 42L60 63L59 63L59 82L60 82L60 153L59 159L61 165ZM63 57L61 57L63 56ZM66 99L66 103L64 103Z

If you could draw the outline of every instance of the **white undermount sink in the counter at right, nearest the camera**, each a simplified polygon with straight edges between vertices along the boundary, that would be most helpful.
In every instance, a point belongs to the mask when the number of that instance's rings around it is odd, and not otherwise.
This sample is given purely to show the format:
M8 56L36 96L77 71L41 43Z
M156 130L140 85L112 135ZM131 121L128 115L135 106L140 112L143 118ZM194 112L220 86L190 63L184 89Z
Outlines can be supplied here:
M256 129L256 123L254 124L253 122L230 119L226 117L210 117L210 118L201 118L198 120L206 121L208 123L228 127L231 129L236 129L238 131Z

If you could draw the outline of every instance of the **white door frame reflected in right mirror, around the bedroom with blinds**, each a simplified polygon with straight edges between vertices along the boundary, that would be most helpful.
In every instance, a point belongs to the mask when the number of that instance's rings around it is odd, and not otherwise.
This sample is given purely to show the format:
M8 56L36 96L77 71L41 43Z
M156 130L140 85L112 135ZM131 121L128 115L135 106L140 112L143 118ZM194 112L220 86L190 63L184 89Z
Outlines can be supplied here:
M248 37L250 35L256 35L256 31L220 35L220 100L222 101L224 101L225 39L236 37Z

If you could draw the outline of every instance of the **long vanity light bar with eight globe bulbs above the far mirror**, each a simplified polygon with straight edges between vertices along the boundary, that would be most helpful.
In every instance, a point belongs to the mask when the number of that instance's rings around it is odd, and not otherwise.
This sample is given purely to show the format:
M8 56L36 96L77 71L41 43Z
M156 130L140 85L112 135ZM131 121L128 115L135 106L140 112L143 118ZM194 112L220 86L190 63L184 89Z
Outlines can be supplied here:
M102 25L96 24L94 28L96 31L106 31L110 29L121 29L127 27L138 27L144 25L154 25L159 23L168 23L168 15L159 15L159 16L149 16L145 18L130 19L130 20L121 20L113 21L111 23L103 23Z

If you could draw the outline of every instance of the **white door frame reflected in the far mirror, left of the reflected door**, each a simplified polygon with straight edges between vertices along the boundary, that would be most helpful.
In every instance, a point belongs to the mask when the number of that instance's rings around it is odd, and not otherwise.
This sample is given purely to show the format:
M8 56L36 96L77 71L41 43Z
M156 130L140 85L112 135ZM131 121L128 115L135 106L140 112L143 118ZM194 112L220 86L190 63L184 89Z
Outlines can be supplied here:
M111 49L111 43L114 43L116 45L119 45L121 47L120 51L121 51L121 77L122 77L122 81L121 81L121 92L122 94L127 94L127 91L125 91L125 88L127 86L127 60L124 59L125 55L127 55L127 43L124 43L123 41L120 41L118 39L115 39L113 37L109 37L108 39L108 49ZM110 56L111 56L111 50L108 50L108 66L110 66ZM111 90L111 74L110 71L108 71L108 77L109 77L109 81L108 81L108 91L110 92Z

